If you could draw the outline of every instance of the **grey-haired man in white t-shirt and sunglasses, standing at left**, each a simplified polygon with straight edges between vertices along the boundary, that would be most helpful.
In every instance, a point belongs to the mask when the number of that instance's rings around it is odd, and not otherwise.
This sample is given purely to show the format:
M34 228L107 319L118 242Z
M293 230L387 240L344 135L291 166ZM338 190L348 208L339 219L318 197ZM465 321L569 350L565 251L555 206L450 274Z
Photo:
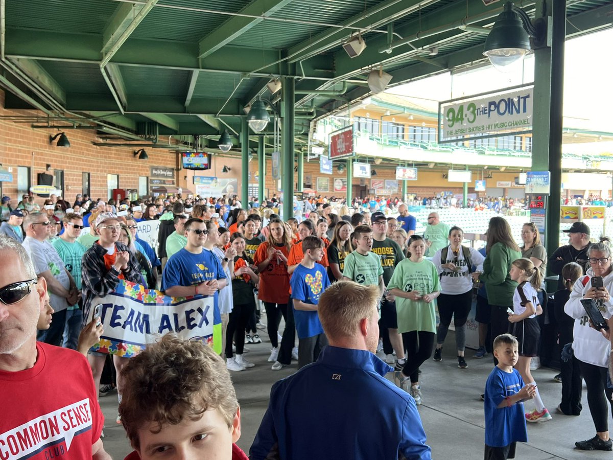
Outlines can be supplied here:
M38 340L61 347L66 326L66 309L68 305L77 303L79 291L58 251L47 240L47 227L50 224L55 225L55 221L49 220L44 213L27 215L23 221L26 231L23 247L34 263L36 276L45 278L51 298L50 304L55 310L51 327L47 331L40 331Z

